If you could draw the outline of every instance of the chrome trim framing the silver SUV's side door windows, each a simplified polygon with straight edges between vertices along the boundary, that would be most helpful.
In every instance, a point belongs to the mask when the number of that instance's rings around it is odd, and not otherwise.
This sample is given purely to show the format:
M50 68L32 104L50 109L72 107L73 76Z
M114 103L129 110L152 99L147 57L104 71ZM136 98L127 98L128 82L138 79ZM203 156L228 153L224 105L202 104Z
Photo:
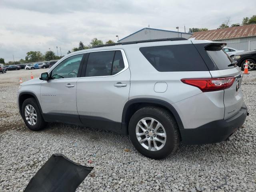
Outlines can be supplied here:
M86 53L92 53L92 52L102 52L102 51L121 51L122 53L122 57L123 57L123 60L124 60L124 68L118 72L117 74L114 74L114 75L107 75L107 76L92 76L92 77L74 77L74 78L61 78L61 79L50 79L50 80L64 80L64 79L80 79L80 78L99 78L99 77L113 77L113 76L116 76L122 72L124 72L126 69L129 68L129 64L128 64L128 60L127 60L127 57L126 57L126 54L124 52L123 49L108 49L108 50L97 50L97 51L88 51L88 52L82 52L82 53L77 53L77 54L74 54L74 55L78 55L78 54L86 54ZM67 58L70 58L74 55L70 55L69 57ZM64 60L66 60L67 58L65 58ZM64 60L60 61L56 66L58 66L60 63L62 63ZM54 66L54 68L56 67ZM52 66L53 67L53 66ZM52 68L48 74L50 74L50 72L52 72L52 70L54 69Z

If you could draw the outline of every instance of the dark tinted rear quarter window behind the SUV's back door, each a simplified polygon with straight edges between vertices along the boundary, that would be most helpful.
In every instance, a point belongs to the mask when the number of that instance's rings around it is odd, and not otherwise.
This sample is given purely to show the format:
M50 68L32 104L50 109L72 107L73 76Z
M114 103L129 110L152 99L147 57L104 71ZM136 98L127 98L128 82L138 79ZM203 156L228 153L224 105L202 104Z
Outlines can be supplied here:
M208 70L192 44L142 47L140 52L156 70L161 72Z

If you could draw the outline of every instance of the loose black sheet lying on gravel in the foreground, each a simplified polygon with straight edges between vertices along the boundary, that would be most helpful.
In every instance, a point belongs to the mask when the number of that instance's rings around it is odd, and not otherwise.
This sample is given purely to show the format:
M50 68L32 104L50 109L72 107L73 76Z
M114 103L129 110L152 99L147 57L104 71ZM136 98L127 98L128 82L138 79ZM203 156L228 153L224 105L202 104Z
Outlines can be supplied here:
M24 192L75 192L93 167L53 154L30 180Z

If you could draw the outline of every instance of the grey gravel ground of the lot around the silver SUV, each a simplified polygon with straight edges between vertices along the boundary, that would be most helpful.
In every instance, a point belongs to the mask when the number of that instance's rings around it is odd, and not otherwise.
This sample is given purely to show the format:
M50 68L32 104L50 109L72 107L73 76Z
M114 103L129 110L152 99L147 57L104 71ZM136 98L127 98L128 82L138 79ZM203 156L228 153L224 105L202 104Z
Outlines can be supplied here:
M39 76L43 70L32 72ZM94 167L77 192L256 191L256 71L243 78L250 116L240 130L226 142L181 145L163 160L142 156L128 136L113 132L60 123L28 130L16 108L16 90L18 78L29 74L0 74L0 191L23 191L54 153Z

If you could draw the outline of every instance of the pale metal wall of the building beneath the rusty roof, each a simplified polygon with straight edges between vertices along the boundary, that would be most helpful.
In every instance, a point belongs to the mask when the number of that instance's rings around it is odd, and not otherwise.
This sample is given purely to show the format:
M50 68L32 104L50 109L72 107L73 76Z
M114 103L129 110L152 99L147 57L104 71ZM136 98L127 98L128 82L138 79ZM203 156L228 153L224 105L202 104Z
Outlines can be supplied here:
M246 38L237 38L237 39L227 39L219 40L226 42L228 47L232 47L238 50L249 50L249 41L250 41L250 50L256 49L256 37L246 37Z

